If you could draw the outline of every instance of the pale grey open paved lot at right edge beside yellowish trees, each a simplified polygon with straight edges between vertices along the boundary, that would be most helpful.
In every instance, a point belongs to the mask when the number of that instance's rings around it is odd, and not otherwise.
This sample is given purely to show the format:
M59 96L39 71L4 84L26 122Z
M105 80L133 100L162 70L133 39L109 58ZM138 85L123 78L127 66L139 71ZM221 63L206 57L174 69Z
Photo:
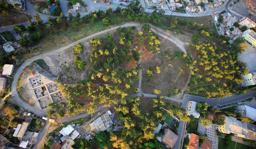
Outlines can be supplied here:
M247 63L247 69L250 70L250 73L253 73L256 72L256 49L247 42L245 42L245 44L248 48L242 54L239 54L239 60Z

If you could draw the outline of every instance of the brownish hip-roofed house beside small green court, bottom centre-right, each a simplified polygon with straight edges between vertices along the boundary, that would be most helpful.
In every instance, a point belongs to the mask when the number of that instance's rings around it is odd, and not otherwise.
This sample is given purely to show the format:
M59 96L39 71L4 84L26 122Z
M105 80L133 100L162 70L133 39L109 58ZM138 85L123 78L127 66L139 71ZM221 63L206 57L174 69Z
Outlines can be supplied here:
M164 130L165 134L163 136L162 142L166 145L167 148L173 148L175 145L178 136L174 134L170 129Z

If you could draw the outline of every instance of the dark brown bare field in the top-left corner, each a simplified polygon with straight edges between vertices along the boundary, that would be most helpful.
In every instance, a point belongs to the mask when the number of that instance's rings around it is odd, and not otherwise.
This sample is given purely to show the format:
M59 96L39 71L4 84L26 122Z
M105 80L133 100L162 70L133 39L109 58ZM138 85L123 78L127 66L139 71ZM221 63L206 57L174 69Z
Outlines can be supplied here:
M0 14L0 25L7 26L27 22L26 15L10 11L7 14Z

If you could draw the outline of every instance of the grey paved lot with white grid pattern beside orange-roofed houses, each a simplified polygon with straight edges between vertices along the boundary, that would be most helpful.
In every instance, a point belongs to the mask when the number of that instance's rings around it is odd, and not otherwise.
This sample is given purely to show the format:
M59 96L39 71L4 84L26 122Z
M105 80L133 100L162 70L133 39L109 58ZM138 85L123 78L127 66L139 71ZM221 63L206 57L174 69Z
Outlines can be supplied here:
M213 149L218 149L218 136L216 134L216 125L206 128L207 139L213 142Z

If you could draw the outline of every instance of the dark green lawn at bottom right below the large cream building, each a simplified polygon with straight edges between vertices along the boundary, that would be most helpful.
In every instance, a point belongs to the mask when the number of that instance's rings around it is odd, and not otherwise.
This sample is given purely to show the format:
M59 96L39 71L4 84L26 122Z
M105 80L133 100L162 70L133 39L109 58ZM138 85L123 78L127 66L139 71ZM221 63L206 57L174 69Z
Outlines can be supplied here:
M231 146L226 146L225 139L219 137L218 149L252 149L252 147L234 141L232 141Z

